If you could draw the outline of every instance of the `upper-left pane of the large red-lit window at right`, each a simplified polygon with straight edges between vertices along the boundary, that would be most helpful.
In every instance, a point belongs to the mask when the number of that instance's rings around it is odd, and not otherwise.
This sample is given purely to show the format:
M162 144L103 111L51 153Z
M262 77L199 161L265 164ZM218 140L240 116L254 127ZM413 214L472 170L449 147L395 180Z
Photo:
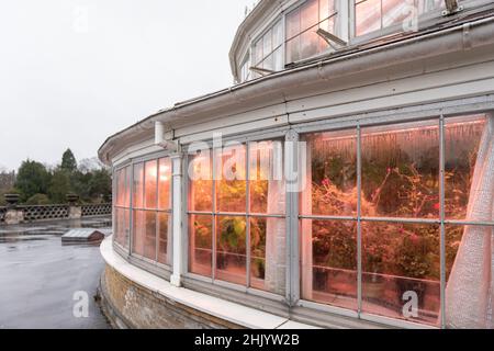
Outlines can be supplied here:
M307 184L301 199L304 215L357 215L356 131L310 134Z

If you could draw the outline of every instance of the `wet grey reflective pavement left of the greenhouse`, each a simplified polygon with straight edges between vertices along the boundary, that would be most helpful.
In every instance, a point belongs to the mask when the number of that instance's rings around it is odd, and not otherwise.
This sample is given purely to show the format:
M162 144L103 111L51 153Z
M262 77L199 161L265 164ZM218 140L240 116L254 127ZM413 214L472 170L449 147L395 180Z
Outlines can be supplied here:
M104 268L99 244L60 238L69 228L110 226L110 218L0 226L0 329L110 328L93 298ZM89 296L87 318L75 317L78 292Z

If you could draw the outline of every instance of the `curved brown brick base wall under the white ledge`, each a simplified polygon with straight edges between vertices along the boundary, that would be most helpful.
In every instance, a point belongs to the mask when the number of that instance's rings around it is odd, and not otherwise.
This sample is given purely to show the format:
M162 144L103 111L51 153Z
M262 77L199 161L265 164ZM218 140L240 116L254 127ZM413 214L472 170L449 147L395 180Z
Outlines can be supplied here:
M116 328L239 329L226 320L192 309L126 279L110 265L101 278L102 309Z

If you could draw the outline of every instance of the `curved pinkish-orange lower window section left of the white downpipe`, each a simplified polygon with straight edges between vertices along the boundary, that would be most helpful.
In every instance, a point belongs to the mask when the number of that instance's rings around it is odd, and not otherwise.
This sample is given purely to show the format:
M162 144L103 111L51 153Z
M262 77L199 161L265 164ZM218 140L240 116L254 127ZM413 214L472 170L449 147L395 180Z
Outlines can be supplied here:
M115 241L136 258L171 265L170 159L116 170L115 189Z

